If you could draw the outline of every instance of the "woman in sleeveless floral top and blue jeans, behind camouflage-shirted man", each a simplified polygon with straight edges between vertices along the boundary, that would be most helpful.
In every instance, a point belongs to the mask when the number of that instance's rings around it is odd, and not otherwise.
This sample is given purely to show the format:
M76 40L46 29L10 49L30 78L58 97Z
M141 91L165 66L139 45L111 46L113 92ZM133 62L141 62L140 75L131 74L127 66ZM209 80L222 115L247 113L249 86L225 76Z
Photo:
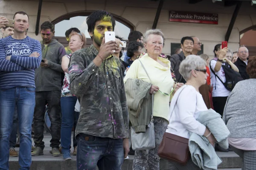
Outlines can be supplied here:
M72 53L81 48L85 48L86 38L83 33L72 32L69 35L70 42L69 47ZM63 80L63 86L61 89L61 152L63 153L64 160L70 160L70 145L71 145L71 132L74 125L74 120L78 120L79 112L75 112L75 105L77 97L70 92L70 79L68 75L68 65L70 62L70 55L65 55L62 57L61 67L65 72L65 77ZM76 122L75 122L76 125ZM76 126L75 126L76 128ZM76 155L77 145L75 136L73 136L73 155Z

